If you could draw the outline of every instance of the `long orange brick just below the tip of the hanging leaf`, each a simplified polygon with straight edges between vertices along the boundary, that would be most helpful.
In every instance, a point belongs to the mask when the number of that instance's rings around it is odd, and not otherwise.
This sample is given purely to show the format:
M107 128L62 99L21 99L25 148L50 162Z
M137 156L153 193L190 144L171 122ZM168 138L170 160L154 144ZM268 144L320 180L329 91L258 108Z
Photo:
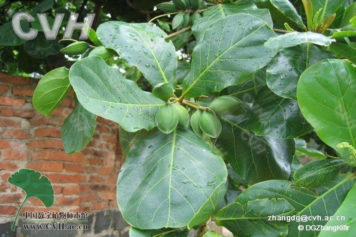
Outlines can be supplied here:
M63 160L73 162L83 162L84 157L81 153L66 154L63 151L37 151L32 155L32 159Z

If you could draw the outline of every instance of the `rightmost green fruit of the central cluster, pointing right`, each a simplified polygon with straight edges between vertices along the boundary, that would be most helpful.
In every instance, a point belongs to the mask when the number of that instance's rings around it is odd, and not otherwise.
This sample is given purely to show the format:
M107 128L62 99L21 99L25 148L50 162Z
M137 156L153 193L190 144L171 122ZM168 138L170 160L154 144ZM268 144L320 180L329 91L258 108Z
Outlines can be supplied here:
M219 115L242 115L246 113L245 108L242 107L242 101L230 95L223 95L210 103L209 108Z

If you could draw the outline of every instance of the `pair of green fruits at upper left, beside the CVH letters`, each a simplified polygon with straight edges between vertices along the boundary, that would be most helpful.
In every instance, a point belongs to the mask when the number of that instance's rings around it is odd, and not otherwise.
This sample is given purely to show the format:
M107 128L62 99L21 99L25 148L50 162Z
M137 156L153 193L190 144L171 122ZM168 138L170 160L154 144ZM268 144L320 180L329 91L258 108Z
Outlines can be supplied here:
M109 64L109 61L114 57L115 51L109 48L105 48L104 46L97 46L90 50L89 43L85 41L77 41L69 44L68 46L62 48L60 50L61 53L74 56L74 55L82 55L82 58L87 56L100 56L102 57L106 63Z

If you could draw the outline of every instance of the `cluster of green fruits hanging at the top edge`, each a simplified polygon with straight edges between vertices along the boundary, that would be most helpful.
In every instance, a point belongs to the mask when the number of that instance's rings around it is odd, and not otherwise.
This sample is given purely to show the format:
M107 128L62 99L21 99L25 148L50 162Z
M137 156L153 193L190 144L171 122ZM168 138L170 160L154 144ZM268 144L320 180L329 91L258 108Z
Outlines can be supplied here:
M157 9L166 13L176 13L172 20L173 30L191 26L200 18L197 10L206 9L207 5L202 0L173 0L173 2L163 2L157 5Z

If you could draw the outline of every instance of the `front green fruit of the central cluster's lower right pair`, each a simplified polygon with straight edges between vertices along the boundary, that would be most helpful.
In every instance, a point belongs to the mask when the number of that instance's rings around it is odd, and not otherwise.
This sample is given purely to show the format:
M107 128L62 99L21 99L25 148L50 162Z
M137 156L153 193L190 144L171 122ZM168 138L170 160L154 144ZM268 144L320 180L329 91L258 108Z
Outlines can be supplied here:
M200 129L209 137L217 138L221 133L221 121L212 112L204 111L199 118Z

